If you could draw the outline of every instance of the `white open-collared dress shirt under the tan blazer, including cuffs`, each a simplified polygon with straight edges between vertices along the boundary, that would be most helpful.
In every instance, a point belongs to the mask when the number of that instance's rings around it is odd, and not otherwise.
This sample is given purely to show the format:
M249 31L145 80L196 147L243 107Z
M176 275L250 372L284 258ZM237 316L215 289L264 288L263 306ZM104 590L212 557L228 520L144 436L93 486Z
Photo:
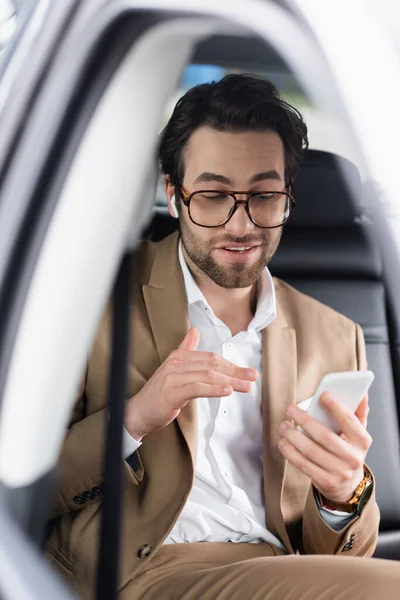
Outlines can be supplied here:
M268 268L259 283L255 315L247 331L232 336L213 313L183 257L179 261L188 301L190 325L200 331L198 350L214 352L230 362L256 369L257 381L247 393L224 398L198 398L198 448L194 484L165 544L182 542L270 542L285 550L265 525L262 465L261 355L262 330L276 317L275 289ZM140 444L124 430L124 457ZM347 513L321 516L340 530ZM350 515L353 518L354 515Z

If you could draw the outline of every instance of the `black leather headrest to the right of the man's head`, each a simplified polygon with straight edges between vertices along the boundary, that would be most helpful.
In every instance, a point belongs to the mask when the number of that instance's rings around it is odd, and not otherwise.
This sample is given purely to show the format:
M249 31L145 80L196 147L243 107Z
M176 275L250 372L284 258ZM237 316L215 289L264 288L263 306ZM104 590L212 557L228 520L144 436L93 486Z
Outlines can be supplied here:
M297 201L285 225L272 272L285 278L368 278L382 275L380 253L363 220L355 165L309 150L294 186Z

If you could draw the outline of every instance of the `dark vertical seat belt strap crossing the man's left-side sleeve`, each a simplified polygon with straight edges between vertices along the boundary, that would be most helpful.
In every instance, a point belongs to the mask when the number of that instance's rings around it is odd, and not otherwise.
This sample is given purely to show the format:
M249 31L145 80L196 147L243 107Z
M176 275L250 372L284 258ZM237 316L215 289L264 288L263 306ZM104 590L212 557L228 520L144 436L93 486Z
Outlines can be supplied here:
M108 384L109 422L104 453L97 600L118 594L122 508L122 427L127 393L132 255L125 254L113 292L112 354Z

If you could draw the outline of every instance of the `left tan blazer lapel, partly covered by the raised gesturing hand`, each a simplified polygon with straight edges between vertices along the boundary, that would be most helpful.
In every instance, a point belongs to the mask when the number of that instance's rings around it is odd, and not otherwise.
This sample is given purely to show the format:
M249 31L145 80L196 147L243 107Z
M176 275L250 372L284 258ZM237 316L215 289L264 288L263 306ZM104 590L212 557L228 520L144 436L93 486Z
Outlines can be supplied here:
M149 283L142 287L160 363L178 348L190 327L185 286L178 258L178 240L178 234L173 234L158 244ZM177 421L195 465L195 400L181 410Z

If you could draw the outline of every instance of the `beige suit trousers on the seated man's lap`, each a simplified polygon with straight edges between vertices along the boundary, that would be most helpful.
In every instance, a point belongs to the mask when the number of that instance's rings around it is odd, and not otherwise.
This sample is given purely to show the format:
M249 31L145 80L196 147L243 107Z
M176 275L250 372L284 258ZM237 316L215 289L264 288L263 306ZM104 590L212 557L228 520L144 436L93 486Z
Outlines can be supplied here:
M121 600L399 600L400 562L284 555L270 544L162 546Z

